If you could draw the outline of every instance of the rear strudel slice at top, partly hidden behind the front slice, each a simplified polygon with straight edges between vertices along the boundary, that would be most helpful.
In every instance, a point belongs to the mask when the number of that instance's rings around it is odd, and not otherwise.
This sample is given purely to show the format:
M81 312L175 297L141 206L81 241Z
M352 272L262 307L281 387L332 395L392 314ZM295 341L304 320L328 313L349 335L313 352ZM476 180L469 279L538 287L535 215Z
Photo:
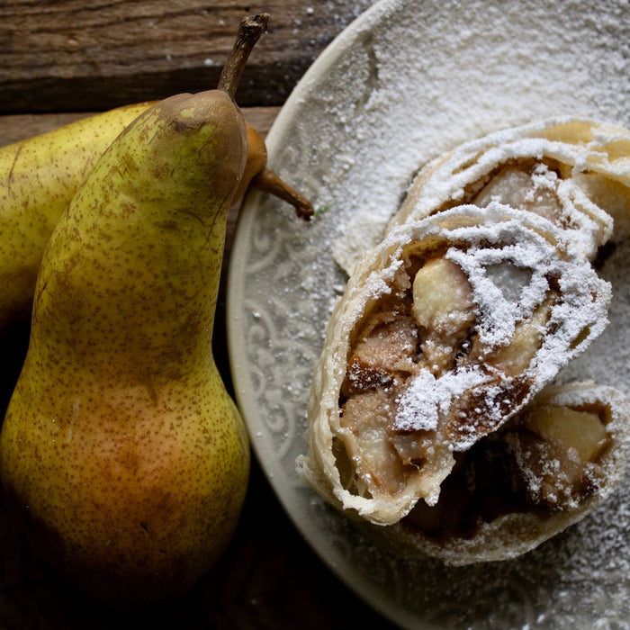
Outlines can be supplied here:
M557 118L465 142L420 170L389 229L492 200L544 215L592 259L630 232L630 131Z

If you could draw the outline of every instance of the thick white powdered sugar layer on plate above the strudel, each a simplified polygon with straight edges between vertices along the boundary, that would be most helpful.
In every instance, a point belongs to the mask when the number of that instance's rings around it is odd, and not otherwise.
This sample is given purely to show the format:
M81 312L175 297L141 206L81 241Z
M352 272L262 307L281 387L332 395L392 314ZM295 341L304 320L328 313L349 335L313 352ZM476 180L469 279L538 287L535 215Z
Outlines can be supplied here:
M428 3L409 23L361 41L331 81L339 92L315 95L327 112L325 135L348 140L330 147L336 163L320 190L322 204L341 212L338 262L348 268L357 248L378 242L417 170L462 142L558 115L627 126L615 93L618 77L630 75L628 44L610 56L592 46L607 39L608 22L618 19L609 32L628 30L616 4L613 18L583 5ZM518 33L518 45L508 33Z

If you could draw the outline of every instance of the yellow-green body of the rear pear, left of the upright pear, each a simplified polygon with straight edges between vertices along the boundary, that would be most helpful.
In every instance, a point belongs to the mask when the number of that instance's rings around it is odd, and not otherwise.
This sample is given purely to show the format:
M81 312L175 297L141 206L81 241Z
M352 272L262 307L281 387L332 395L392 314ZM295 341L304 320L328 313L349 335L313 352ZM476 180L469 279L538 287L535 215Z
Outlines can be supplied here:
M0 148L0 335L31 318L41 255L76 188L149 103L125 105Z

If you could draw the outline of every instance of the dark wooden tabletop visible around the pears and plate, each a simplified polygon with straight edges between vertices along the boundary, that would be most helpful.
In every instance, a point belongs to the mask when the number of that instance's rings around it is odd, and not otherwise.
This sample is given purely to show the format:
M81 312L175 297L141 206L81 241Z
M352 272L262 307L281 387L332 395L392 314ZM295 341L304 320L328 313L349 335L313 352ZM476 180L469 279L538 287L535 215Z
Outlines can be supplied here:
M5 0L0 3L0 146L86 112L213 86L239 20L263 11L271 15L269 30L250 58L238 101L265 133L320 51L371 4ZM228 248L236 212L230 215ZM223 308L220 301L218 322ZM19 369L23 339L16 341L14 348L0 349L0 361L13 362L2 373L4 395L11 386L6 374ZM229 383L220 323L215 347ZM256 461L238 531L220 563L175 605L138 614L97 608L77 595L31 553L0 503L0 630L365 625L390 627L304 542Z

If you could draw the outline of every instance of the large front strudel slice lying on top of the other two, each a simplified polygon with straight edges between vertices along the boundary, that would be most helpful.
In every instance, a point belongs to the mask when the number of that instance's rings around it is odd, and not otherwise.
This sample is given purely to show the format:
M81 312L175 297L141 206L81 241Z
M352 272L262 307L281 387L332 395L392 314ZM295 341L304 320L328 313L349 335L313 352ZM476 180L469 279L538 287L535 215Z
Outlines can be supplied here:
M392 229L329 321L302 478L378 525L437 505L461 454L599 335L609 299L533 212L491 201Z

